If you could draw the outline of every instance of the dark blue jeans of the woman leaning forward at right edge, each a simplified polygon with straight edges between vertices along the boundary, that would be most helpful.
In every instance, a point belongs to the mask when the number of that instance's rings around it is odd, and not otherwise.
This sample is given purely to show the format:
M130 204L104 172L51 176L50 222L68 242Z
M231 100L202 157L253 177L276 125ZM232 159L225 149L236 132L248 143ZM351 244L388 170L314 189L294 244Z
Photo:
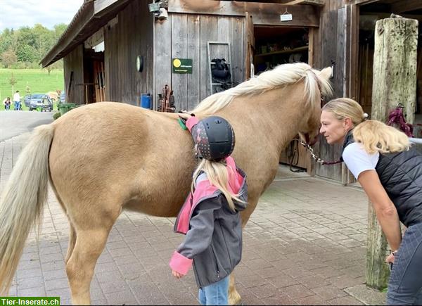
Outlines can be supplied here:
M422 305L422 223L411 225L394 258L387 305Z

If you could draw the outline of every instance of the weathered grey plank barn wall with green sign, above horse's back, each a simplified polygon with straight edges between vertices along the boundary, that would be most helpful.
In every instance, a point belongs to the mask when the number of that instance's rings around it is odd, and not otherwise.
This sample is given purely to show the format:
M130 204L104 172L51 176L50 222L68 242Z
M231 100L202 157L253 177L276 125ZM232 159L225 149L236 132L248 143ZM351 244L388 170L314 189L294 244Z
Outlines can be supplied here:
M210 96L210 79L207 58L207 42L230 42L233 81L243 82L243 39L242 16L196 15L169 13L168 20L155 22L155 93L154 100L162 87L169 84L174 90L177 110L191 110ZM211 54L211 58L224 57L222 50ZM172 58L192 58L192 74L172 73ZM227 58L226 58L227 59Z

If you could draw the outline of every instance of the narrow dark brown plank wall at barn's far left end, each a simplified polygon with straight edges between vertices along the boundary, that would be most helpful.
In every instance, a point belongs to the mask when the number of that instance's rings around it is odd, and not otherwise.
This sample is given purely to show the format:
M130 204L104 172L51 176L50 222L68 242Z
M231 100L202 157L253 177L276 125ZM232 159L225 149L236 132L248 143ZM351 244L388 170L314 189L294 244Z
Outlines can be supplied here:
M79 44L63 58L66 103L84 104L84 44ZM70 76L73 75L72 81ZM69 87L69 83L70 87Z

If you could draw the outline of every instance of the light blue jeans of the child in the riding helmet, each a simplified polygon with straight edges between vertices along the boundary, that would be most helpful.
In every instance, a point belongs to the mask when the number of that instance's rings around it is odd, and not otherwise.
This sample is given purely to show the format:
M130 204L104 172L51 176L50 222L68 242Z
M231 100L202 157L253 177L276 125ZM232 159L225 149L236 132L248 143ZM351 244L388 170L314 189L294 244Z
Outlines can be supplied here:
M198 299L201 305L229 305L229 276L199 288Z

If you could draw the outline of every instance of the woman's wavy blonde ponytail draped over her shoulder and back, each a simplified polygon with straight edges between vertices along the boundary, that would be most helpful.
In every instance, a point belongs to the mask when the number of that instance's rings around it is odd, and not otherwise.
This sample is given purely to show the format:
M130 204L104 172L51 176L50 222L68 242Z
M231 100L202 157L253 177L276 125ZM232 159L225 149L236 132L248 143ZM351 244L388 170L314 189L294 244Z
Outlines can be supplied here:
M355 127L353 138L361 143L369 154L402 152L410 148L406 134L376 120L366 120Z

